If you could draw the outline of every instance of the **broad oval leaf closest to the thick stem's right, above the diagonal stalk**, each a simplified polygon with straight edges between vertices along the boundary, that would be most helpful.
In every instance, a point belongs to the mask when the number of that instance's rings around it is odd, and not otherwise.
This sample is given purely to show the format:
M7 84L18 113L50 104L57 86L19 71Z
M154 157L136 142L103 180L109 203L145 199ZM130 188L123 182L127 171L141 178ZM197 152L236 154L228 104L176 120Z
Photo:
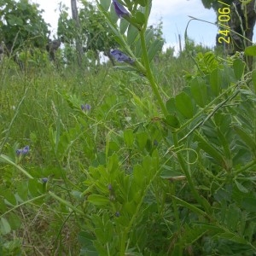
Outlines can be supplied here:
M181 92L175 97L177 110L183 114L184 117L190 119L193 117L193 104L191 98L185 93Z

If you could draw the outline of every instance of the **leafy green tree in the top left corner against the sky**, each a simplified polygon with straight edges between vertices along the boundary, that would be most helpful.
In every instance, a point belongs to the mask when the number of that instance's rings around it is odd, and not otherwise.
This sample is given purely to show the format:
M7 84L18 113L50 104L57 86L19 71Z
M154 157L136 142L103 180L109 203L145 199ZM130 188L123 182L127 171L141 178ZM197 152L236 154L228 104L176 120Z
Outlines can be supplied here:
M42 13L38 4L28 0L0 0L0 41L8 54L17 49L45 48L49 25Z

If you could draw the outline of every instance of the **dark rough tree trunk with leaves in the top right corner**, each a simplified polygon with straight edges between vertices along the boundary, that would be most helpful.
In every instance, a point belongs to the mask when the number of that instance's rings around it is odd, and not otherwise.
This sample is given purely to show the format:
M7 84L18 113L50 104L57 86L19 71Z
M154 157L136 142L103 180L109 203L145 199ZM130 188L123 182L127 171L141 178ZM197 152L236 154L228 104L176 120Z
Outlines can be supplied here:
M221 3L221 1L218 2L216 0L201 0L201 2L205 6L205 8L214 9L218 17L222 15L219 13L219 10L220 12L225 13L223 15L226 15L225 17L228 20L228 25L230 26L230 38L232 40L232 49L230 52L231 54L234 54L236 51L242 51L245 49L245 47L252 44L251 42L253 40L253 27L255 26L255 21L256 21L256 11L254 9L256 0L248 0L248 1L225 0L223 1L229 4L230 8L224 5L224 3ZM229 10L230 10L230 13L229 13ZM241 36L238 36L238 34L244 36L249 41L243 39ZM247 62L248 62L249 68L252 69L253 59L248 58Z

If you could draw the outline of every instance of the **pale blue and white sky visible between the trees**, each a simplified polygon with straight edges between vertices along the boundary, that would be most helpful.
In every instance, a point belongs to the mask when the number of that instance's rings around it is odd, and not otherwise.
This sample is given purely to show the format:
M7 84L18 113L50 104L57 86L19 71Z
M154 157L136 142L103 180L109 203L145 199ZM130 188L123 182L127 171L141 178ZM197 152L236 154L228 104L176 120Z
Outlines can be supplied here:
M51 25L51 34L55 34L59 3L64 3L70 8L70 0L32 0L31 2L38 3L39 9L44 9L44 20ZM205 9L201 0L153 0L148 25L157 24L159 20L162 20L166 47L174 46L178 51L178 35L180 34L183 42L184 32L190 20L189 16L212 23L216 20L215 12L212 9ZM192 20L189 23L189 38L195 40L197 44L213 47L217 32L217 26L206 22Z

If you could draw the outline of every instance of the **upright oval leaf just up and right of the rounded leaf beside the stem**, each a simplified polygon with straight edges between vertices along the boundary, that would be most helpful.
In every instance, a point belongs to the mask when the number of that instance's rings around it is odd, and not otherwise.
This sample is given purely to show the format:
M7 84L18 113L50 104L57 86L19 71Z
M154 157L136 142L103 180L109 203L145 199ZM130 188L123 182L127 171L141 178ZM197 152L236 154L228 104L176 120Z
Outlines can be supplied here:
M195 99L195 102L204 108L207 104L207 84L201 78L195 78L190 82L191 94Z

